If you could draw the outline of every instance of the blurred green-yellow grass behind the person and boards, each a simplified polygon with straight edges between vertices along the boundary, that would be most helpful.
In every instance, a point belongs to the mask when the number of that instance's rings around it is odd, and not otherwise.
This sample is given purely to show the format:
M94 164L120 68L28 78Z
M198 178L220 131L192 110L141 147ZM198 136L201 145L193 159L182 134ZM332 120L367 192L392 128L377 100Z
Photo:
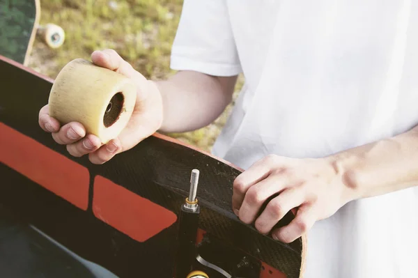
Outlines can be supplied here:
M29 67L55 78L72 59L90 60L94 50L112 48L148 79L164 79L174 73L170 52L182 5L183 0L40 0L40 24L61 26L65 42L50 49L37 37ZM234 100L242 83L241 76ZM232 106L205 128L169 136L210 151Z

